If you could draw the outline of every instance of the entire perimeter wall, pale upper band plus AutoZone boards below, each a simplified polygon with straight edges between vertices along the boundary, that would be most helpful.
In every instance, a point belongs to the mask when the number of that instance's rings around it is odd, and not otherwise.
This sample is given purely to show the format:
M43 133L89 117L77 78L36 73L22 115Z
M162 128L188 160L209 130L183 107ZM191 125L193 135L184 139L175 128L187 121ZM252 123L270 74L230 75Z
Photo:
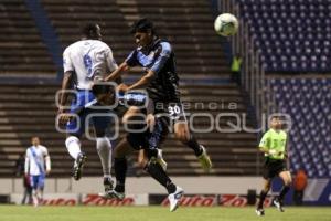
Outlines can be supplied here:
M261 178L259 177L173 177L173 181L184 188L185 196L188 196L185 200L189 204L199 202L200 206L204 206L203 203L237 207L254 204L255 202L252 203L252 199L254 199L253 201L256 200L256 194L259 193L261 188ZM275 183L270 197L277 194L280 190L277 181ZM100 178L82 178L78 182L68 178L49 178L45 187L45 204L57 201L61 203L67 202L68 204L89 204L84 203L85 201L93 204L108 203L109 206L118 203L102 201L97 198L97 193L102 192L103 189ZM248 197L248 191L250 197ZM0 179L0 197L8 197L12 203L18 203L22 199L22 179ZM164 189L149 177L128 178L127 194L128 199L122 202L124 204L167 204ZM312 206L331 206L331 179L309 179L303 202ZM292 203L291 191L287 194L286 203Z

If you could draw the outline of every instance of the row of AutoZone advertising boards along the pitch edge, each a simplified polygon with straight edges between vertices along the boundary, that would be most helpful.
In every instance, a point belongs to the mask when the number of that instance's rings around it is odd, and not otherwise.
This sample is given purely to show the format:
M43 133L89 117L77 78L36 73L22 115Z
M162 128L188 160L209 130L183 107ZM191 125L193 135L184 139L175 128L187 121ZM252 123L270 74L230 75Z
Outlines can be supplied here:
M21 204L22 194L10 194L11 203ZM239 194L185 194L182 197L180 204L182 207L245 207L247 197ZM270 198L266 199L265 206L270 206ZM128 194L124 200L103 199L96 193L75 194L75 193L54 193L44 194L41 201L42 206L148 206L159 204L169 206L167 194Z

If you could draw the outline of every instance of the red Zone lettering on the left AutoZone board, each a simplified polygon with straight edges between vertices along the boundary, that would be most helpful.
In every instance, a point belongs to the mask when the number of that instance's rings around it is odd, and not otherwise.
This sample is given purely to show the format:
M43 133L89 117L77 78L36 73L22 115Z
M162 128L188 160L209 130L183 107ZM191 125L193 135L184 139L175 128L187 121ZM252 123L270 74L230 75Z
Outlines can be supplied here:
M134 206L135 199L131 197L127 197L124 200L117 199L104 199L97 194L86 194L85 198L82 200L82 204L86 206Z

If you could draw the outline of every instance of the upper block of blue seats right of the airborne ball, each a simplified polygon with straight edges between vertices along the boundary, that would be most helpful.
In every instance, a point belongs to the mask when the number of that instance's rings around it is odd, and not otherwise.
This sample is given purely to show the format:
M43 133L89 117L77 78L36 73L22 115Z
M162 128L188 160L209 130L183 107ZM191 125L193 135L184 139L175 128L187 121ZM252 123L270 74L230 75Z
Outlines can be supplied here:
M239 0L266 72L331 70L331 1Z

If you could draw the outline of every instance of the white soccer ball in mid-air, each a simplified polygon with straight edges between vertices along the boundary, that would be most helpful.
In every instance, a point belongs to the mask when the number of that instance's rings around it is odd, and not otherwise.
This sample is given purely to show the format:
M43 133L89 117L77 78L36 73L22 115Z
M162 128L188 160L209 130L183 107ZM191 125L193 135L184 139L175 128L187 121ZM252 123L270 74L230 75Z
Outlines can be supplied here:
M238 30L239 23L235 15L231 13L220 14L214 21L214 29L222 36L234 35Z

